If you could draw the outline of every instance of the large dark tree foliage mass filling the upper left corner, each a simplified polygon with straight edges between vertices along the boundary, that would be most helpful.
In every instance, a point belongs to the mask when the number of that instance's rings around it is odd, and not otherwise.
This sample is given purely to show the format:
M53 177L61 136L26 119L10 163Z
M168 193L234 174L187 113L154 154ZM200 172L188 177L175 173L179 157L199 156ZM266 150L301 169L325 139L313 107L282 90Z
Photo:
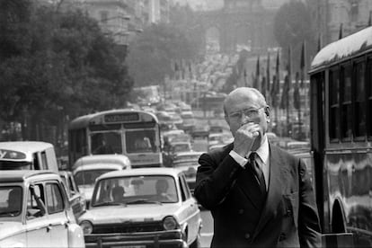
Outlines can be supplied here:
M61 116L124 106L133 80L97 22L28 0L1 6L0 119L57 125Z

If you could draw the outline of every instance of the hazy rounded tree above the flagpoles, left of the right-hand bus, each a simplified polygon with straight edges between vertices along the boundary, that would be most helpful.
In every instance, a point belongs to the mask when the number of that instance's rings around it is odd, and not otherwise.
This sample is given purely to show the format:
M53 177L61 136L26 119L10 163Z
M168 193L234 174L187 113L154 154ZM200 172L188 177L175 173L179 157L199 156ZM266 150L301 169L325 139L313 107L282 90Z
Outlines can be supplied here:
M301 1L292 0L279 8L274 20L274 35L280 47L292 48L293 58L300 58L304 40L308 51L306 61L309 61L310 55L316 51L313 18L310 16L309 7ZM284 56L285 60L288 60L287 55ZM293 69L298 71L299 65L294 64Z

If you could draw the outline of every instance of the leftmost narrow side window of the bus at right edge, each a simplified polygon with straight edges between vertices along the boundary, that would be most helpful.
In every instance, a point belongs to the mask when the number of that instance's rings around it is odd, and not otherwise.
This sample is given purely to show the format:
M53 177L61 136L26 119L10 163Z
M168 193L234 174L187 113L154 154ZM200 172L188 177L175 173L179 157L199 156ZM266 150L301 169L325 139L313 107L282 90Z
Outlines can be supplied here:
M329 75L329 97L330 97L330 122L329 122L329 133L330 139L338 140L340 131L340 76L338 67L335 66L330 70Z

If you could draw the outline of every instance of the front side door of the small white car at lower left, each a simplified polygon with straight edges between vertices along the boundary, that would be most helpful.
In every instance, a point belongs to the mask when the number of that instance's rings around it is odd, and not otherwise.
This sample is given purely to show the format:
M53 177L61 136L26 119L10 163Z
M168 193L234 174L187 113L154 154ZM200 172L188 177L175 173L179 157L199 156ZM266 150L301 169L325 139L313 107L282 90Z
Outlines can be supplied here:
M26 233L27 247L50 247L49 218L45 213L44 187L31 185L27 192ZM42 209L44 208L44 209Z

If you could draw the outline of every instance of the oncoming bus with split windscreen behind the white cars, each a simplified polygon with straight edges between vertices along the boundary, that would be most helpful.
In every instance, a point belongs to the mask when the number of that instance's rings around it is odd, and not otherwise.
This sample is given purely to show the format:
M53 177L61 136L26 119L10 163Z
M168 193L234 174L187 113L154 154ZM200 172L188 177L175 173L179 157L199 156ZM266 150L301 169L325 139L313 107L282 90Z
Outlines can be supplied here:
M127 155L133 168L163 166L160 126L153 113L111 110L84 115L68 126L69 169L84 155Z

